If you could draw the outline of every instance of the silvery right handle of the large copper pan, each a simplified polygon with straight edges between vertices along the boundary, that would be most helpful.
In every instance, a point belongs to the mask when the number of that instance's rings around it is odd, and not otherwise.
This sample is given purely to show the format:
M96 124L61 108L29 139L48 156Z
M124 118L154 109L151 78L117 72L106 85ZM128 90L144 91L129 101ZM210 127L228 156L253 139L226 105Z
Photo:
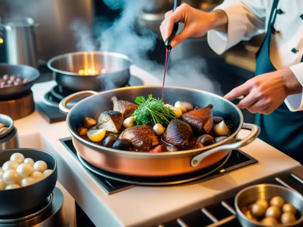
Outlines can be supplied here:
M243 126L241 127L241 129L251 130L251 133L248 135L248 137L246 137L244 139L235 139L234 140L234 141L236 141L235 143L224 144L222 146L215 147L211 150L205 151L201 154L198 154L198 155L194 156L191 159L191 163L190 163L191 166L192 167L197 167L205 157L207 157L211 154L214 154L218 151L221 151L221 150L235 150L235 149L238 149L240 147L243 147L243 146L251 143L252 141L254 141L260 134L260 128L255 124L244 123Z

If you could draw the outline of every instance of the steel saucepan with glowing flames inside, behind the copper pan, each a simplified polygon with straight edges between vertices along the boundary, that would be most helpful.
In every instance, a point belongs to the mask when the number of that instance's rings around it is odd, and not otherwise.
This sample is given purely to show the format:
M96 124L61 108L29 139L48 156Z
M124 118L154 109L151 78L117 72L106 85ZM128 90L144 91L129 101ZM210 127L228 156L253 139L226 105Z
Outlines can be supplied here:
M109 90L125 86L132 60L123 54L101 51L62 54L48 61L58 85L73 91Z

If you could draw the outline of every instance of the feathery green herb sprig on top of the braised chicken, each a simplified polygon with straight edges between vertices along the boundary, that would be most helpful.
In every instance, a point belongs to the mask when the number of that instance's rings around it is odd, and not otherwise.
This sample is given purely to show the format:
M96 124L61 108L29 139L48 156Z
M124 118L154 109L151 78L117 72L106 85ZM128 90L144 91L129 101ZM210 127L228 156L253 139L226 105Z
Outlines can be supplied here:
M174 111L168 106L165 106L162 100L153 98L151 94L145 100L145 97L138 96L135 103L139 106L132 114L136 117L137 125L155 125L160 123L167 126L171 119L174 117Z

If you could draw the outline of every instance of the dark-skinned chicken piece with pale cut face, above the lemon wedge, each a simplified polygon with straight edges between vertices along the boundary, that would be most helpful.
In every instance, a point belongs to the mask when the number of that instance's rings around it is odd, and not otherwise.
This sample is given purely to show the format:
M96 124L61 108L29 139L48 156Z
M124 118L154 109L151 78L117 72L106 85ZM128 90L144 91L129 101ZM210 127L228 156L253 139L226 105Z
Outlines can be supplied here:
M107 132L118 133L122 127L123 114L118 111L104 111L98 117L98 129L105 128Z

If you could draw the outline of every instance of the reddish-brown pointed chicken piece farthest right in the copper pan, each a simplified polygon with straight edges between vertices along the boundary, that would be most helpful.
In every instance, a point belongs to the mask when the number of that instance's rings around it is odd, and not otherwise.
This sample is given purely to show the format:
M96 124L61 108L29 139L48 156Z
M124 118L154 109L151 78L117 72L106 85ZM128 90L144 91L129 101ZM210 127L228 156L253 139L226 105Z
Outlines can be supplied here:
M197 132L210 133L214 126L212 107L213 105L209 104L207 107L192 110L182 114L180 119L188 123Z

